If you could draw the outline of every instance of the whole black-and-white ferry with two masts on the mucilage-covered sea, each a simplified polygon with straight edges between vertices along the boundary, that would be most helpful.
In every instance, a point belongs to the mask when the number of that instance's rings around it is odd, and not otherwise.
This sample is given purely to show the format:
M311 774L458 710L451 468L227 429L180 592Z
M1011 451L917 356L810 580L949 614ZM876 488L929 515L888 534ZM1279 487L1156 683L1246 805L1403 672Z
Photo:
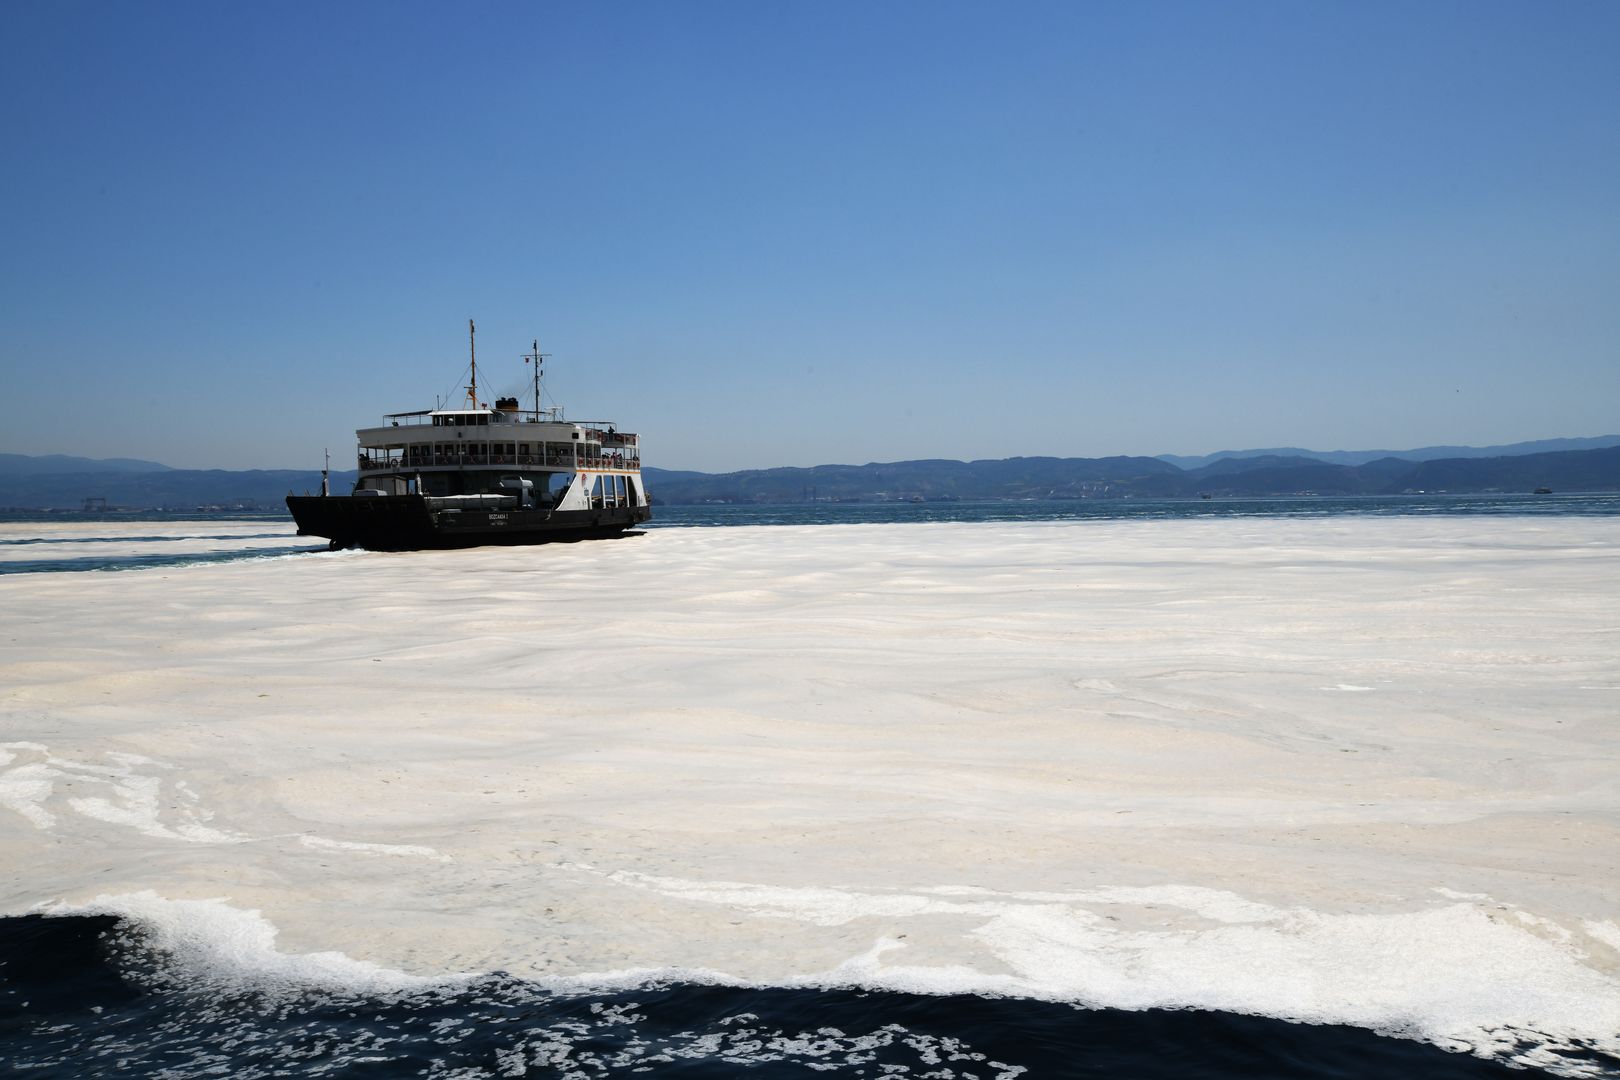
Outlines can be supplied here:
M387 413L355 432L360 476L332 495L287 495L300 536L330 547L420 551L624 536L653 517L642 440L609 421L569 421L541 408L539 342L525 356L535 406L480 402L476 327L467 322L471 379L458 408Z

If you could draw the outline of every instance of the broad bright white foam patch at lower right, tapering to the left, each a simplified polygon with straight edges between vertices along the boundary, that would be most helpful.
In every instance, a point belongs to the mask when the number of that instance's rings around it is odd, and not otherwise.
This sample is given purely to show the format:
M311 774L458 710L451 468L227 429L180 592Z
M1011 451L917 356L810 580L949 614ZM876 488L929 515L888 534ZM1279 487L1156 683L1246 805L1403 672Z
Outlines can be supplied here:
M595 873L583 865L559 870ZM923 941L927 916L966 916L978 920L969 936L1009 970L991 975L967 965L907 963L907 942L885 936L802 983L1353 1023L1510 1059L1520 1052L1520 1040L1539 1041L1549 1031L1620 1052L1620 981L1586 967L1583 950L1560 926L1524 912L1503 916L1500 905L1333 915L1189 886L998 895L959 887L912 894L680 881L624 871L606 876L757 918L816 926L912 920L923 923L915 929ZM1150 908L1157 925L1129 928L1110 908L1131 908L1137 916ZM1220 925L1199 926L1184 916ZM1588 933L1602 941L1610 929L1597 926L1594 933L1588 925Z

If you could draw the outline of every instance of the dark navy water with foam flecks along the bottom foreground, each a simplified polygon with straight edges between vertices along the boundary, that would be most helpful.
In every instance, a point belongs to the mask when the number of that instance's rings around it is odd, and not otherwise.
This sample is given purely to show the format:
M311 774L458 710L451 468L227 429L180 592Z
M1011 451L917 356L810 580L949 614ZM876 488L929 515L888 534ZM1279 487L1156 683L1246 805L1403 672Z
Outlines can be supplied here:
M1614 1069L1594 1054L1571 1064ZM557 993L491 975L408 994L165 975L112 916L0 920L11 1077L1116 1077L1526 1080L1418 1041L1212 1012L1013 997L653 984Z

